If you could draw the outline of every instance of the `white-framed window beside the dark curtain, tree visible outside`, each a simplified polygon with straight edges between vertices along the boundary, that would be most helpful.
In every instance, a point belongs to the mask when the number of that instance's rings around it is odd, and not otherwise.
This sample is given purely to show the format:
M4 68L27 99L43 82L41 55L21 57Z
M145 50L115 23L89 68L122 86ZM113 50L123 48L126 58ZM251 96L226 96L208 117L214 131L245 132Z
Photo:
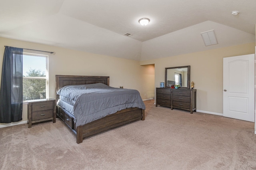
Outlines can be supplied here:
M48 55L23 53L23 101L48 98Z

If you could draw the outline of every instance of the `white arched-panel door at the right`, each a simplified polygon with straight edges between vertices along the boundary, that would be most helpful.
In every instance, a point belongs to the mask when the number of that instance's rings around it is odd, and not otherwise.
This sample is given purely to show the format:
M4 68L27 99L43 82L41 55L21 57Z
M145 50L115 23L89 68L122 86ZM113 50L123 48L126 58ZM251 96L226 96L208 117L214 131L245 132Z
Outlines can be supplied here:
M254 122L255 55L223 58L223 116Z

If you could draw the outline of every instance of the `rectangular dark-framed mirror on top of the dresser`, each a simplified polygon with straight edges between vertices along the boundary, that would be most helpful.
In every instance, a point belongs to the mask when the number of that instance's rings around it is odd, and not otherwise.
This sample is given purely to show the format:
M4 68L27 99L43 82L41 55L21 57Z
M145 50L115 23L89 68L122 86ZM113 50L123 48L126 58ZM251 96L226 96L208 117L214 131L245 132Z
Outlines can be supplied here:
M190 65L165 68L165 87L180 85L180 88L190 89Z

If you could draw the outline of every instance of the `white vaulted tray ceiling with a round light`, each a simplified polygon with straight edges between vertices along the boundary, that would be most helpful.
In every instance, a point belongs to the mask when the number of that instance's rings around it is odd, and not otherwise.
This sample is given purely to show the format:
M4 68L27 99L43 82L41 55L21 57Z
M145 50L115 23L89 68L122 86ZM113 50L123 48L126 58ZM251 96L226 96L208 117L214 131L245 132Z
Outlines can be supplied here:
M256 0L1 0L0 37L147 60L255 42L255 7ZM217 45L204 45L208 30Z

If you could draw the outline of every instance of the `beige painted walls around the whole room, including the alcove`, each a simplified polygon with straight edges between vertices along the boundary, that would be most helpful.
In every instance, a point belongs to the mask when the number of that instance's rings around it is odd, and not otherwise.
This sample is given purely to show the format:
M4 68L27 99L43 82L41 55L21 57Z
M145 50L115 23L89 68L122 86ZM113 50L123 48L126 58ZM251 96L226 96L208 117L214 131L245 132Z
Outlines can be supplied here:
M55 55L49 54L50 98L55 98L55 75L58 74L110 76L110 86L120 87L122 85L124 88L137 89L142 99L150 99L154 98L155 87L159 87L160 82L164 82L165 67L191 65L190 80L194 81L197 89L197 110L220 114L222 114L223 106L223 57L255 53L255 43L248 43L174 57L134 61L0 38L0 76L4 45L56 53ZM24 106L22 117L23 121L27 120L26 106Z

